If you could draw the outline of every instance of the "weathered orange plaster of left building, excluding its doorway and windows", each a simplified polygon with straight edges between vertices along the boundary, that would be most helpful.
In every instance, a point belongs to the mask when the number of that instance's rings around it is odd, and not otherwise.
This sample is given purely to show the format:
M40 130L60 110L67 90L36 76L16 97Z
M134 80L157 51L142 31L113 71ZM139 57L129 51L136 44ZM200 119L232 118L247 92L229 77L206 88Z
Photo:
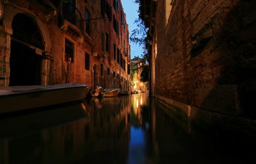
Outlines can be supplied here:
M108 1L114 13L113 1ZM120 3L119 3L120 4ZM81 12L84 19L84 10L89 11L90 19L100 18L100 1L77 1L77 9ZM49 6L48 6L49 7ZM17 13L24 13L31 17L36 22L38 28L44 38L45 49L42 59L42 84L60 84L60 83L82 83L92 85L101 83L104 87L119 87L120 78L113 78L113 71L117 74L122 74L125 80L129 80L129 75L126 71L120 70L120 65L114 61L113 43L116 48L122 48L120 33L126 33L126 30L121 31L120 27L120 11L115 13L115 17L119 23L119 35L115 34L113 29L113 19L96 19L90 20L90 34L87 34L85 29L71 24L67 20L60 20L61 11L54 12L49 10L47 6L43 6L38 1L6 1L4 3L4 17L0 27L0 85L8 86L8 78L10 76L9 58L10 58L10 41L12 35L12 19ZM60 9L60 8L58 8ZM50 15L50 16L49 16ZM112 17L112 15L111 15ZM109 33L109 53L104 52L105 32ZM104 34L102 36L102 34ZM67 63L65 61L65 39L74 43L74 62ZM129 47L129 38L123 38L126 42L126 48ZM96 53L95 53L96 52ZM85 69L85 54L90 55L90 69ZM96 54L93 56L93 54ZM128 57L125 60L126 66ZM104 73L100 76L100 63L104 66ZM95 73L93 70L95 66ZM110 69L111 74L108 75L107 69ZM95 76L95 77L94 77ZM124 84L122 84L124 86Z

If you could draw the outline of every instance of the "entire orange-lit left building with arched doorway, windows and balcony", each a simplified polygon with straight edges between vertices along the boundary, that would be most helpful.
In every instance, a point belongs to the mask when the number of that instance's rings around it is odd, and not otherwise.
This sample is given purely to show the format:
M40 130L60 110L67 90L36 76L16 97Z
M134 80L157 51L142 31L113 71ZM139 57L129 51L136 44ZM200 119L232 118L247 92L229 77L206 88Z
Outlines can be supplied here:
M81 83L129 89L120 0L3 0L0 86Z

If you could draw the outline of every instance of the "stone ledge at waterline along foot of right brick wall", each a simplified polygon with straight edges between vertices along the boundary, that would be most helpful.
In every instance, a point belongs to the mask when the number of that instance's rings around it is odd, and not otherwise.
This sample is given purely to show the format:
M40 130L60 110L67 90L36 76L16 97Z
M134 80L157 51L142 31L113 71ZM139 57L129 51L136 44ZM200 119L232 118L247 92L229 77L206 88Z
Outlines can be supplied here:
M195 124L195 126L202 130L209 131L210 133L216 133L217 131L223 133L234 132L243 135L243 137L256 137L255 120L191 107L163 96L157 95L155 98L177 116Z

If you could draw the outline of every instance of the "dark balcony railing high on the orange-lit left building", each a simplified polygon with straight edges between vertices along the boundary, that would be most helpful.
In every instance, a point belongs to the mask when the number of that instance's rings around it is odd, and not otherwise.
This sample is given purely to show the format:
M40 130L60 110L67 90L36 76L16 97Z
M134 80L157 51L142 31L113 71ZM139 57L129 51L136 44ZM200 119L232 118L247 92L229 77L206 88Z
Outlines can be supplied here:
M63 3L62 4L62 15L63 18L68 20L68 22L76 25L80 29L84 29L84 23L82 20L81 12L76 8L74 4Z

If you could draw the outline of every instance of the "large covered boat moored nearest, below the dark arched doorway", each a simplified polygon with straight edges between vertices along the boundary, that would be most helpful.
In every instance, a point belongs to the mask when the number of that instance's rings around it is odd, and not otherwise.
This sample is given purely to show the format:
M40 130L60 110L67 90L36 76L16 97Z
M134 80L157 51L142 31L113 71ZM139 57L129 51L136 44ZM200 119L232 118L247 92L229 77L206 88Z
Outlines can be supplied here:
M83 84L0 87L0 114L82 100L89 90Z

